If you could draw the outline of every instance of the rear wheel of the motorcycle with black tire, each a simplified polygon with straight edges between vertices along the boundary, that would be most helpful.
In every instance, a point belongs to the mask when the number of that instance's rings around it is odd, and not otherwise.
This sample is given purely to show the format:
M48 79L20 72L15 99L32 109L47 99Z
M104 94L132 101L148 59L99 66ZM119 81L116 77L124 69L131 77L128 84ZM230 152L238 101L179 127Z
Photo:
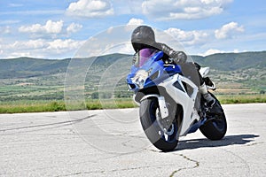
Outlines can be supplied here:
M200 132L210 140L221 140L226 133L227 122L222 105L213 94L211 95L215 98L220 113L207 112L207 122L200 127Z

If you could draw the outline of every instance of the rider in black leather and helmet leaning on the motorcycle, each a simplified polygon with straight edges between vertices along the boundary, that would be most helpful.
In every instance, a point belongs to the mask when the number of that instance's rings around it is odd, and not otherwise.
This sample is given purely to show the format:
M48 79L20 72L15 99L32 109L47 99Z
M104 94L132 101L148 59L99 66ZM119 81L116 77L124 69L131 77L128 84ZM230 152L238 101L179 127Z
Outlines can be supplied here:
M184 53L184 51L176 51L168 47L167 44L165 43L160 43L155 41L155 35L153 32L152 27L148 26L139 26L134 31L132 32L131 35L131 43L136 51L136 53L139 50L143 49L154 49L154 50L161 50L164 53L163 60L166 61L166 58L172 58L173 62L176 63L177 65L181 65L181 67L186 67L188 65L185 65L187 56ZM196 65L190 65L196 67ZM203 98L207 101L207 105L212 107L215 104L215 98L211 96L207 92L206 84L203 81L199 70L199 78L200 78L200 94L203 96Z

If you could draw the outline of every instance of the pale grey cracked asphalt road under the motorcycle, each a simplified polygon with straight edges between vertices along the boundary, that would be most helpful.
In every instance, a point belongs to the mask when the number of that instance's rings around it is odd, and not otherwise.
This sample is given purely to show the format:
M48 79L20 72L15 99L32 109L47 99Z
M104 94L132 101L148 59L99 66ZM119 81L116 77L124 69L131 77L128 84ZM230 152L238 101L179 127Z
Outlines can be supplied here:
M223 105L228 131L161 152L137 109L0 114L1 176L265 176L266 104Z

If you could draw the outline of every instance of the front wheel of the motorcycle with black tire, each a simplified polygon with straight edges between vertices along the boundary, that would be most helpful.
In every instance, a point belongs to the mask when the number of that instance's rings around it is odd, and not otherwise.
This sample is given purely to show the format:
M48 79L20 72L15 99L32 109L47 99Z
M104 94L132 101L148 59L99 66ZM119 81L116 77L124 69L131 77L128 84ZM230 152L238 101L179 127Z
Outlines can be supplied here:
M141 125L150 142L159 150L174 150L178 142L176 118L161 119L156 97L148 97L143 100L140 103L139 113Z

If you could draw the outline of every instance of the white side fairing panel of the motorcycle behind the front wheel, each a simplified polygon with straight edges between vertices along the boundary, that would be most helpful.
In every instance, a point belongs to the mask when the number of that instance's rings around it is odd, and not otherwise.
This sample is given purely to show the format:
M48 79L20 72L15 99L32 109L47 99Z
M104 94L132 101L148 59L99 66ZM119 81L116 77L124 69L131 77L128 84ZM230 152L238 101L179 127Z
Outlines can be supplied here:
M174 83L176 81L178 81L179 85L183 87L183 90L177 89L174 86ZM187 85L190 85L190 87L192 87L193 92L191 96L189 96L188 93L185 91L182 82L185 82ZM159 86L164 87L167 90L168 95L175 100L176 104L182 105L184 110L184 118L181 125L180 136L186 135L192 123L196 119L200 119L198 112L194 109L195 100L199 91L198 87L192 81L180 74L176 74L168 78L167 80L161 82Z

